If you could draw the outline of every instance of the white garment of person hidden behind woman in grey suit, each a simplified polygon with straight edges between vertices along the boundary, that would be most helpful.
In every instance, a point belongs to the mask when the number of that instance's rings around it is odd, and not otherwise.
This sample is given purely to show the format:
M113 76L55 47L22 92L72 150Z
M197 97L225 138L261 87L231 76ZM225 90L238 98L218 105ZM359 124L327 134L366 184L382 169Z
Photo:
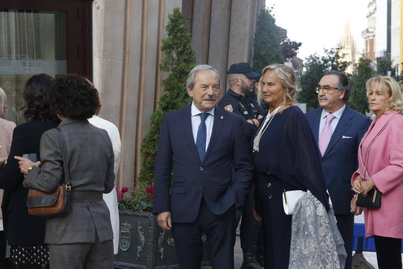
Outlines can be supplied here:
M116 180L116 175L117 175L117 172L119 171L119 164L120 164L121 143L120 143L119 130L113 123L108 122L107 120L104 120L96 115L92 116L92 118L88 119L88 121L92 125L94 125L98 128L104 129L109 135L110 141L112 142L113 154L115 157L114 172L115 172L115 180ZM116 186L116 183L115 183L115 186ZM104 193L102 195L102 197L103 197L106 205L108 206L109 214L110 214L110 220L111 220L112 232L113 232L113 254L117 254L118 247L119 247L119 209L117 208L116 189L113 188L113 190L111 192Z

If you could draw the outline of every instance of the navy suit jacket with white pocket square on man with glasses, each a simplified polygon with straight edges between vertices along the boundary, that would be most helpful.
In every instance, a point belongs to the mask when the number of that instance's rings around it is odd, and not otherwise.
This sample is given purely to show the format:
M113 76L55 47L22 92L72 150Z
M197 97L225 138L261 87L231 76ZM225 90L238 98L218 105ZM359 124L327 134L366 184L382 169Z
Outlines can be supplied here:
M305 114L316 146L321 114L321 108ZM358 168L358 146L370 124L370 118L346 105L323 156L317 146L323 178L335 214L351 214L350 201L354 194L351 190L351 176Z

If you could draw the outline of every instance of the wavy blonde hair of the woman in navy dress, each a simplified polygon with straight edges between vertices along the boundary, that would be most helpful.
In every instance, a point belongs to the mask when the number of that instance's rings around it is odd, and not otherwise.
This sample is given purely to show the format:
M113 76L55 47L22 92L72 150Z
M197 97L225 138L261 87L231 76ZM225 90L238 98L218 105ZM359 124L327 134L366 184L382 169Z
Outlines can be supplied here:
M280 78L281 85L286 88L283 98L285 104L294 104L295 95L298 93L297 80L295 78L294 70L286 65L274 64L266 66L261 71L261 76L258 84L259 93L257 95L257 101L261 106L264 103L263 93L261 92L261 81L264 74L267 71L275 71L277 76Z

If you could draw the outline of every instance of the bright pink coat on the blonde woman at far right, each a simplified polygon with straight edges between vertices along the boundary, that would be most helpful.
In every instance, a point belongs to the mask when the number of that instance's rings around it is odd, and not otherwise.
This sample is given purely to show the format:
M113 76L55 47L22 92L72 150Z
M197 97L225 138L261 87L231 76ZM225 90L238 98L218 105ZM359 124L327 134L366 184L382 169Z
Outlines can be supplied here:
M397 113L387 111L370 125L358 150L358 170L351 183L360 175L364 178L365 159L361 144L371 141L386 122ZM375 124L376 123L376 124ZM372 132L370 132L372 130ZM365 152L364 152L365 155ZM367 164L366 179L372 176L382 193L381 208L364 209L365 235L403 238L403 116L394 117L373 143Z

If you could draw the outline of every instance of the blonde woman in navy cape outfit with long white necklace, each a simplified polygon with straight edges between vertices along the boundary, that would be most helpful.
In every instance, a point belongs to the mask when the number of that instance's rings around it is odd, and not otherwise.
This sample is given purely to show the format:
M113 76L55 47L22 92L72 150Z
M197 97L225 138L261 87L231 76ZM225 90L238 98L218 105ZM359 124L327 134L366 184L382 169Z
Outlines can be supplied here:
M262 221L266 268L288 268L292 215L283 209L283 191L309 189L329 209L315 139L294 105L294 71L285 65L262 70L258 101L270 105L253 139L255 218ZM257 211L257 212L256 212Z

